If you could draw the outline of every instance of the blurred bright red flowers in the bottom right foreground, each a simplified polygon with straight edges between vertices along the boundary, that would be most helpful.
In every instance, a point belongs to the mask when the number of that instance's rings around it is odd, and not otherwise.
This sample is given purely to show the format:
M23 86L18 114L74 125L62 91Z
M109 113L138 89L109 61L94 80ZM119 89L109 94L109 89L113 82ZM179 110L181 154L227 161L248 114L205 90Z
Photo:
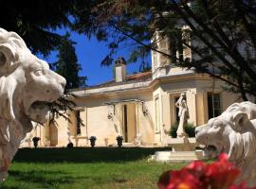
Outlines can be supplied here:
M159 189L246 189L246 184L233 184L240 170L229 163L227 154L220 154L217 162L196 161L177 171L163 173L157 182Z

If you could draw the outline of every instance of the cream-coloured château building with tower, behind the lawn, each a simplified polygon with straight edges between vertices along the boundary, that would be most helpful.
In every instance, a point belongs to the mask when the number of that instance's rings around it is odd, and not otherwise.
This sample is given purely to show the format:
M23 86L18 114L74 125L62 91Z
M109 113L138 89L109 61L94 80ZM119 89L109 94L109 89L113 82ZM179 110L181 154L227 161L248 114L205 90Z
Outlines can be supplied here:
M160 37L155 32L157 38ZM168 39L158 43L158 49L167 52ZM190 49L179 53L184 59L193 58ZM126 73L126 62L119 58L113 80L72 91L78 96L76 111L69 112L72 123L59 117L58 124L37 126L21 146L32 146L34 136L41 138L39 146L66 146L69 142L90 146L90 136L97 137L96 146L117 146L119 135L127 146L165 146L171 137L169 131L178 120L174 104L181 93L186 94L188 122L194 126L205 124L239 99L238 95L223 91L222 81L174 67L171 60L155 52L152 71L129 76Z

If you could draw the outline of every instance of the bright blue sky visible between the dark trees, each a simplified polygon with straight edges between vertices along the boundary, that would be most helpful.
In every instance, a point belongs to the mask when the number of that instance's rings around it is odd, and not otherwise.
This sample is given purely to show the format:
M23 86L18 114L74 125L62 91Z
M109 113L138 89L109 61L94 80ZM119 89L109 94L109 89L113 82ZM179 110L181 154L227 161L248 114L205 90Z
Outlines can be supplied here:
M66 30L59 29L58 33L64 34ZM70 39L77 44L75 45L76 54L79 60L79 63L82 65L82 71L79 73L80 76L86 76L88 78L86 84L88 86L100 84L102 82L113 79L113 67L101 66L101 60L108 53L108 48L106 43L98 42L95 37L92 37L90 40L76 32L70 32ZM48 57L43 58L48 62L54 62L57 60L57 53L52 52ZM124 57L128 59L129 48L122 47L118 50L115 55L115 60L118 57ZM147 60L151 63L151 58L148 57ZM133 74L138 72L139 69L139 60L137 63L130 63L127 65L128 74Z

